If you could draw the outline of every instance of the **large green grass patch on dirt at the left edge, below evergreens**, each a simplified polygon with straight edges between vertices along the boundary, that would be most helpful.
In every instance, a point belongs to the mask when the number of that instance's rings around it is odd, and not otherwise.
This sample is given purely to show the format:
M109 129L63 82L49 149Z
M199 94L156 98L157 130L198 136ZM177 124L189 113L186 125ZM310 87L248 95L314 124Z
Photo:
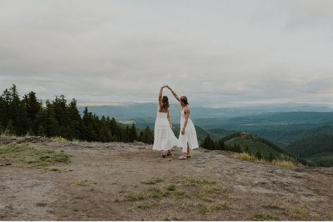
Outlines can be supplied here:
M36 149L27 144L5 144L0 146L0 158L16 164L48 166L54 163L68 163L69 156L46 149Z

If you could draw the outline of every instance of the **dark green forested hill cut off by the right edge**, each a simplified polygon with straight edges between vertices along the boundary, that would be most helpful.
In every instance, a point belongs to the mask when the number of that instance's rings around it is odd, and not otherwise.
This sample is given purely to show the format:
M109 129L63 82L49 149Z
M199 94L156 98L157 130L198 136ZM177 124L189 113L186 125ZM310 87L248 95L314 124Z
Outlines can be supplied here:
M291 142L284 149L318 166L333 166L333 134L309 135Z

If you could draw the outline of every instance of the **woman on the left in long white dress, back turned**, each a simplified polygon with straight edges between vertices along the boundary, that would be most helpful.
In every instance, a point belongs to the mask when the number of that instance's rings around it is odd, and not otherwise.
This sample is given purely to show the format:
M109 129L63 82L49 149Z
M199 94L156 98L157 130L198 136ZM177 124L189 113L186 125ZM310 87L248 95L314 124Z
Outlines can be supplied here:
M172 122L169 115L169 99L162 97L163 88L158 94L158 110L154 128L153 150L163 151L163 157L171 154L170 149L178 145L177 137L172 131Z

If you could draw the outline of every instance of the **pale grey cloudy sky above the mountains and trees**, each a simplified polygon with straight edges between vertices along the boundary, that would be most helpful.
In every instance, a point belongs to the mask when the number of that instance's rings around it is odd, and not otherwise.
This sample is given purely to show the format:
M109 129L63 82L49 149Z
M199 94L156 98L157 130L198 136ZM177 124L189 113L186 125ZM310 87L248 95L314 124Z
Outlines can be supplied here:
M0 0L0 90L333 105L333 1ZM170 93L168 93L170 95Z

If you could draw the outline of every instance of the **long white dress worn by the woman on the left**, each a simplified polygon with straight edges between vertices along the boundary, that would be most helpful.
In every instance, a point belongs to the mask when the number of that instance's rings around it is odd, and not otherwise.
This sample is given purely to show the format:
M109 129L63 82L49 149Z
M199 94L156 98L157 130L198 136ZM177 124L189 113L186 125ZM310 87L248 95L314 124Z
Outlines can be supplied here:
M178 146L177 137L170 128L168 113L157 110L155 128L153 130L153 150L169 150Z

